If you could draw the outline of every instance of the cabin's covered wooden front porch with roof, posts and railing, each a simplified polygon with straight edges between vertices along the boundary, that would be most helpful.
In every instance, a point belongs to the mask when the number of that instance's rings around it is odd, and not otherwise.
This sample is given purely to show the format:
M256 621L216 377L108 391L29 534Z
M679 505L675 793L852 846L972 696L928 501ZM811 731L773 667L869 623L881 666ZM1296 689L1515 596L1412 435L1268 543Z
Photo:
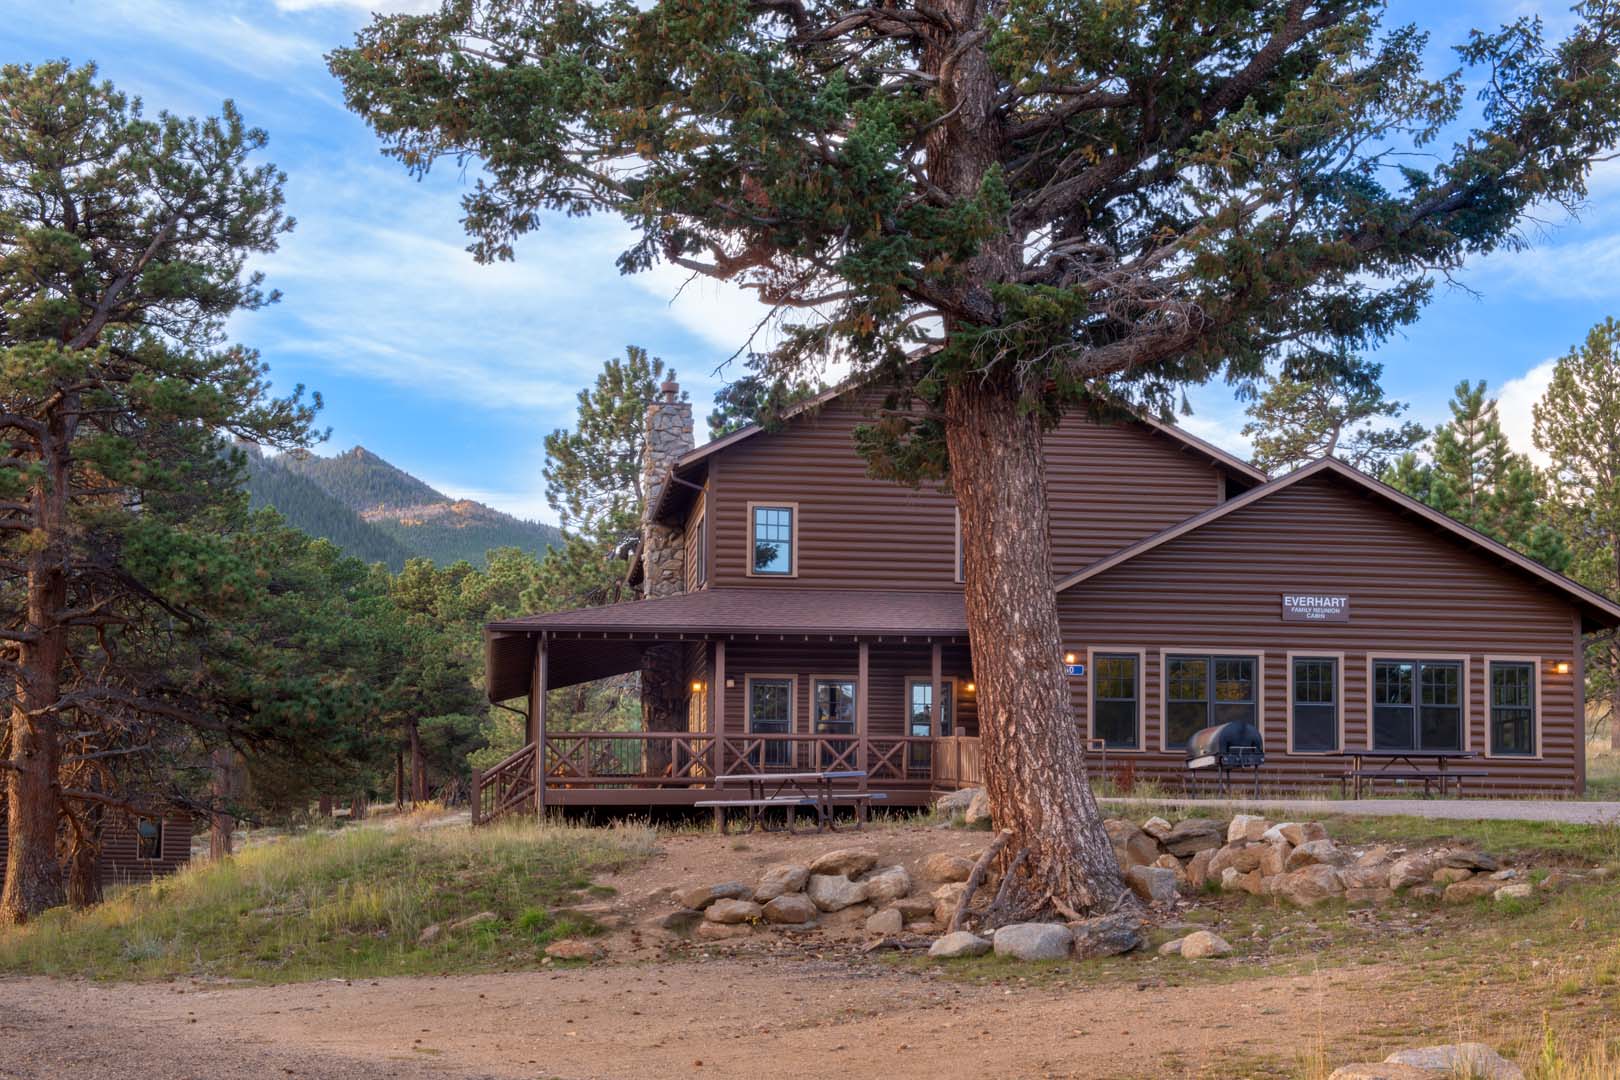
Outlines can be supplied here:
M491 623L489 698L528 699L528 738L475 774L475 821L565 806L690 806L718 777L860 772L919 806L978 779L959 593L705 589ZM679 653L680 730L577 730L548 693Z

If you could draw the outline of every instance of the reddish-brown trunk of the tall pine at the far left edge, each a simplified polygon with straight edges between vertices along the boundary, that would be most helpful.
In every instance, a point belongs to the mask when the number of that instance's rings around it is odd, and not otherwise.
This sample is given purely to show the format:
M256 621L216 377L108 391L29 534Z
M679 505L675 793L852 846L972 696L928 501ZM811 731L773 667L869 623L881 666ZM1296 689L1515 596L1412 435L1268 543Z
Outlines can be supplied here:
M76 411L71 395L40 437L44 474L29 492L36 531L42 542L28 555L29 635L18 643L18 674L11 690L11 758L6 771L6 870L0 889L0 923L24 923L63 902L62 861L57 857L60 808L57 803L62 745L57 703L62 699L62 664L66 654L63 570L68 539L68 445L71 431L63 411Z

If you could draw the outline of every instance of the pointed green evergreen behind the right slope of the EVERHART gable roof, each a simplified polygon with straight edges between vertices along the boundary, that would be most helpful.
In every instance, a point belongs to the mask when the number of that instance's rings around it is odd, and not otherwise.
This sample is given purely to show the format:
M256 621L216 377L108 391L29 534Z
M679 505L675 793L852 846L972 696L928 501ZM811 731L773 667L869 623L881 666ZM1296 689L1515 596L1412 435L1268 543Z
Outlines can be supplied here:
M1432 461L1421 463L1416 453L1405 453L1385 470L1383 481L1563 572L1570 547L1545 520L1547 481L1526 455L1508 445L1486 382L1458 382L1450 408L1450 423L1434 431Z

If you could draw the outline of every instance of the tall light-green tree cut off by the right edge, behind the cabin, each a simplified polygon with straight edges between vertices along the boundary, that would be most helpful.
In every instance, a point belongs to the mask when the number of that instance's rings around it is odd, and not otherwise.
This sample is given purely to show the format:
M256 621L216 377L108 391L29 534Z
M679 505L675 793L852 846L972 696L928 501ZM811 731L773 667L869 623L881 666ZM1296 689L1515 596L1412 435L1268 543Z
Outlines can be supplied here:
M1536 403L1536 445L1552 458L1552 512L1570 538L1576 581L1620 597L1620 324L1604 319L1552 369ZM1586 661L1588 696L1620 748L1620 638L1602 635Z

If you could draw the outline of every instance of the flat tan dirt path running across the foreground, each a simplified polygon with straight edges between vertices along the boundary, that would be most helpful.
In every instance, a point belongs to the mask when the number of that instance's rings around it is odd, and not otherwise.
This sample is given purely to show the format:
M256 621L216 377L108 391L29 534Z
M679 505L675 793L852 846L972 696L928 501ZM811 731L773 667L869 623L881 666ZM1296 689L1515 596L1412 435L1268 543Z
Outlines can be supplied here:
M0 981L0 1075L1213 1078L1400 1007L1377 980L1042 989L813 959L248 989L26 978ZM65 1015L83 1022L52 1046Z

